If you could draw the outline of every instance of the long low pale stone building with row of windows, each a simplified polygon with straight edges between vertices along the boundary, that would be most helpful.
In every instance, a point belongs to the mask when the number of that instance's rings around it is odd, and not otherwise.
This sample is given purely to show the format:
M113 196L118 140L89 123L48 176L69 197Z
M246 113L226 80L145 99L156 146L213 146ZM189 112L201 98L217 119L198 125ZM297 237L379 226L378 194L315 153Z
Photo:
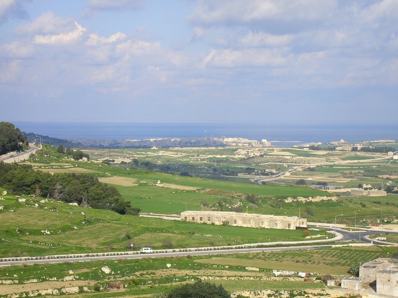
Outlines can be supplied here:
M181 220L194 223L281 229L305 229L307 227L307 219L297 216L287 217L221 211L184 211L181 213Z

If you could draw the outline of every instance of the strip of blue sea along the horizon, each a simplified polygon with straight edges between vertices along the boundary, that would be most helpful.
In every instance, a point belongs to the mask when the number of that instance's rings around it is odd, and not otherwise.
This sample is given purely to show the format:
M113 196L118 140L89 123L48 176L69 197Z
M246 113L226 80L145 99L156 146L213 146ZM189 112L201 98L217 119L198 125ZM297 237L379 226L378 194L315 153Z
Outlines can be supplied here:
M229 137L292 147L332 141L398 140L397 125L317 124L264 125L254 123L66 123L13 122L22 132L58 139L143 140L151 138Z

